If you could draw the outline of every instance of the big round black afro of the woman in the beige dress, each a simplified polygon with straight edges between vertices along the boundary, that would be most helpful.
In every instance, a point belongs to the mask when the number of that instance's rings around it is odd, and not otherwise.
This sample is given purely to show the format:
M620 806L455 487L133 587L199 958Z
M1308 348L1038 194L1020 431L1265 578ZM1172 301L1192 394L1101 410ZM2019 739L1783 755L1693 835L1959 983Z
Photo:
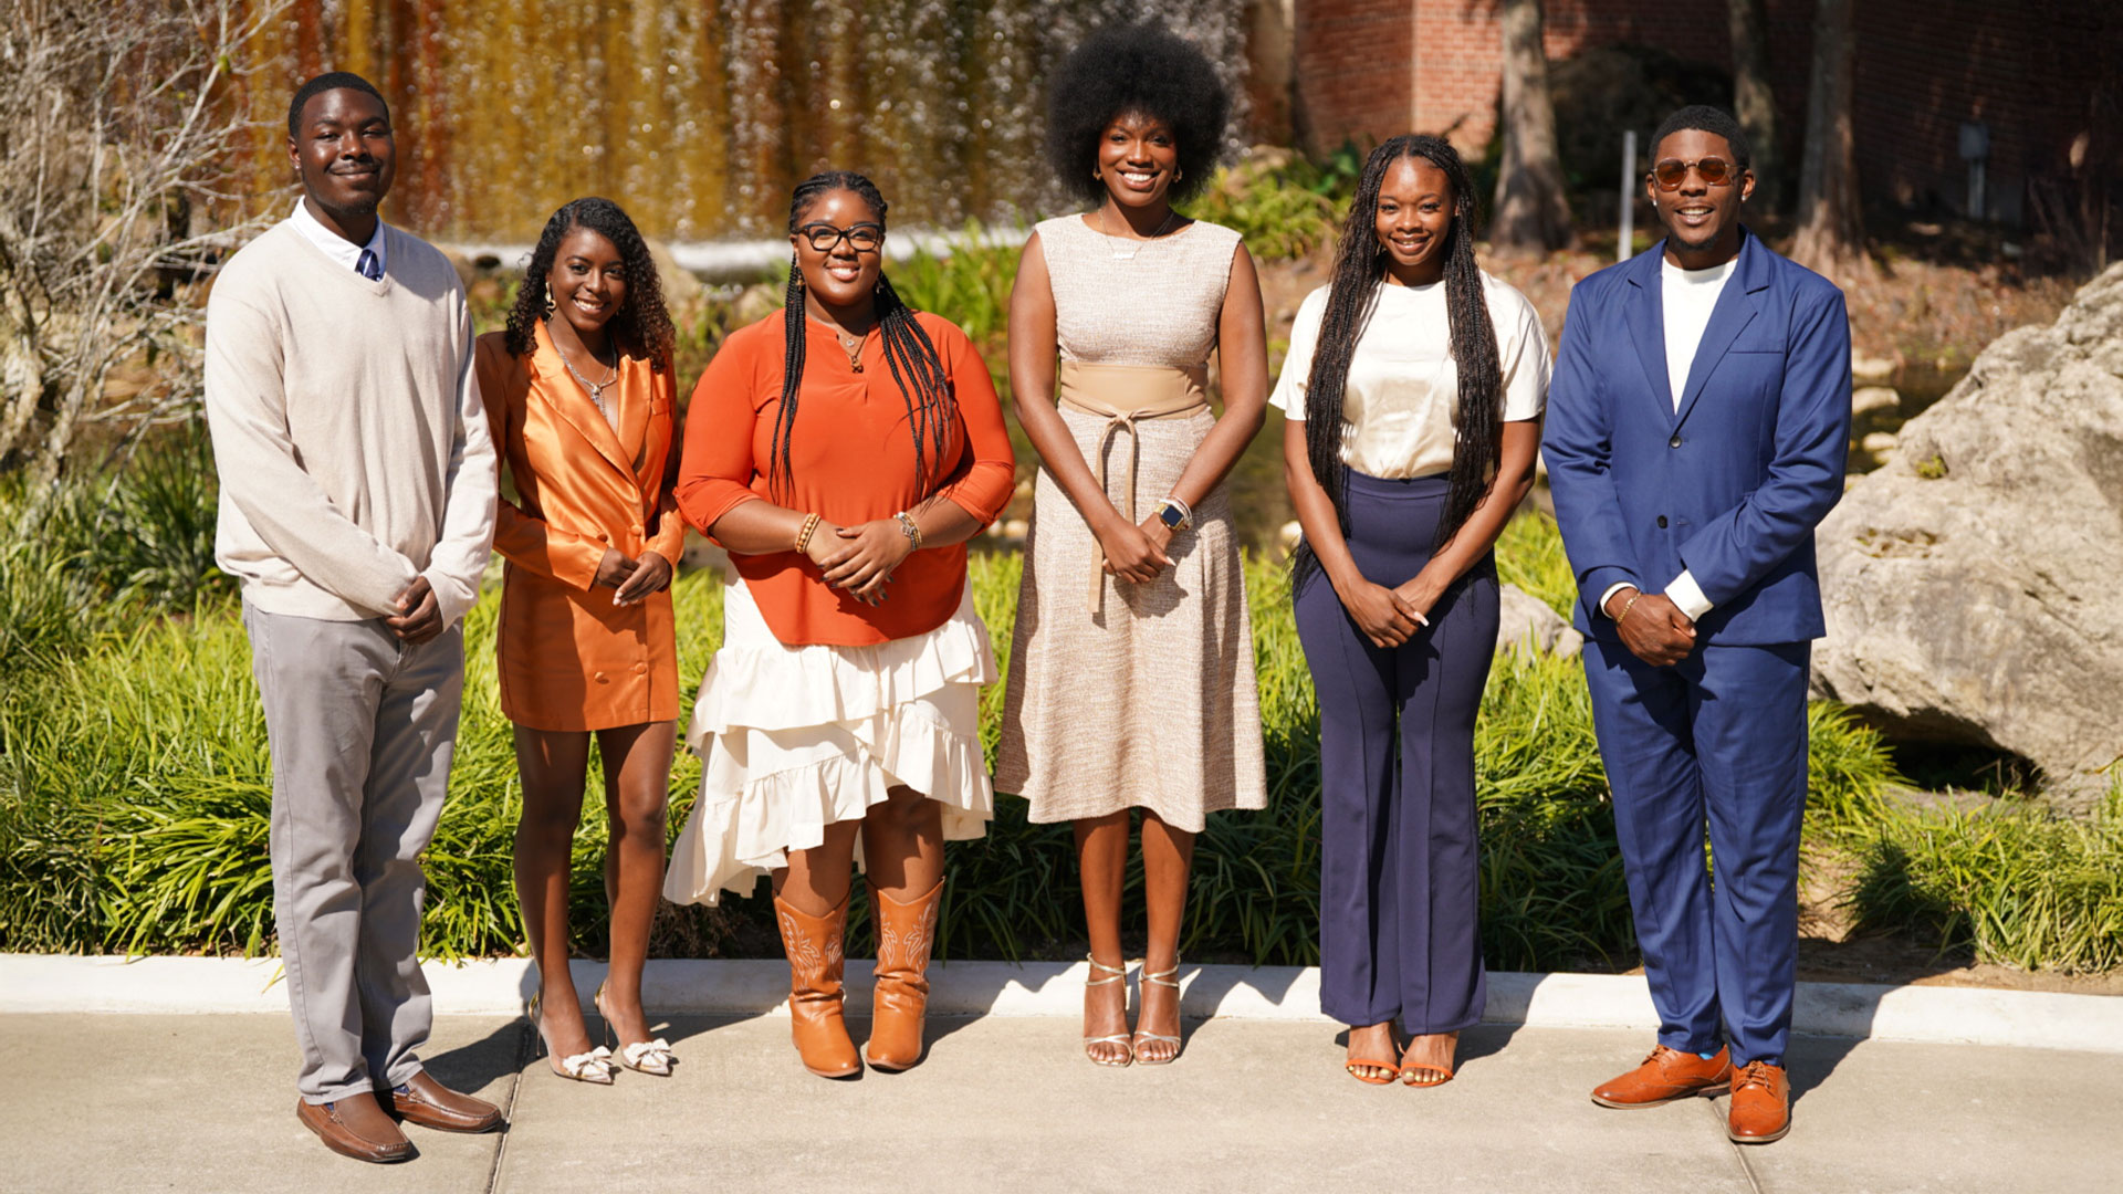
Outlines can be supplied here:
M1202 47L1157 21L1093 32L1047 79L1047 164L1055 178L1081 200L1104 200L1106 185L1091 176L1098 140L1129 113L1172 127L1180 172L1170 198L1197 195L1223 155L1231 91Z

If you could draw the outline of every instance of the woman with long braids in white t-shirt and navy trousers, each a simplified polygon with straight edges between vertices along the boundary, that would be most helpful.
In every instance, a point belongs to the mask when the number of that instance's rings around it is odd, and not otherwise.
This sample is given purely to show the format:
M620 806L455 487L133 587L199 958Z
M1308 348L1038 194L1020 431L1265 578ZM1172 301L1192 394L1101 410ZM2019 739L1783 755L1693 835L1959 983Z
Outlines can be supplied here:
M1533 487L1550 361L1533 304L1475 268L1471 221L1450 144L1380 144L1270 399L1321 705L1321 1009L1371 1084L1448 1081L1486 1001L1473 718L1490 548Z

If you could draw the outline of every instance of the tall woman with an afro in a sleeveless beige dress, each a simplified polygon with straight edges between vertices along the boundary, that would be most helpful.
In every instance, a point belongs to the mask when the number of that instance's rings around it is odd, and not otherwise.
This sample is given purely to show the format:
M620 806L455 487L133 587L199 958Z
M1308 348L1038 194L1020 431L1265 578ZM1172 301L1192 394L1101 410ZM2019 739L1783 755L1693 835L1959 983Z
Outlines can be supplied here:
M1180 1052L1193 839L1208 812L1267 803L1223 484L1265 412L1261 289L1236 232L1172 210L1208 181L1229 113L1199 49L1149 23L1104 30L1049 87L1053 166L1098 208L1040 223L1011 291L1011 389L1042 467L996 788L1032 801L1034 822L1076 826L1085 1052L1163 1064ZM1121 882L1138 807L1149 948L1129 1035Z

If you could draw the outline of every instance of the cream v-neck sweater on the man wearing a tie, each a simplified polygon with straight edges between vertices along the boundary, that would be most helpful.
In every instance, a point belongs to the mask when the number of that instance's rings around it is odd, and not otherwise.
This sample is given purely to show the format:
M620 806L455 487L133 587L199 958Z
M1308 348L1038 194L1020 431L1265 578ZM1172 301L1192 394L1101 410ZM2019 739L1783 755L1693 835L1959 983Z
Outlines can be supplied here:
M395 227L380 280L280 221L206 304L214 563L270 614L397 612L425 576L446 625L480 593L495 446L450 261Z

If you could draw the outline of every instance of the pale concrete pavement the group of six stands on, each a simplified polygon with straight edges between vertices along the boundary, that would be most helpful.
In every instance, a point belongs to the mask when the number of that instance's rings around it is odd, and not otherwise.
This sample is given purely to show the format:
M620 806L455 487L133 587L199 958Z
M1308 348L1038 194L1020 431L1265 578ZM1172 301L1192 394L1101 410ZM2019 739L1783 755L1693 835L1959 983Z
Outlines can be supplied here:
M1482 1026L1456 1081L1408 1090L1346 1077L1316 1024L1197 1022L1176 1064L1123 1071L1083 1060L1076 1028L932 1020L919 1069L824 1081L786 1018L681 1018L675 1077L592 1088L531 1060L520 1018L446 1016L429 1067L510 1128L410 1128L416 1160L365 1166L295 1122L284 1016L11 1013L0 1190L2053 1194L2123 1173L2112 1054L1798 1037L1792 1135L1741 1149L1722 1098L1586 1098L1643 1056L1637 1030Z

